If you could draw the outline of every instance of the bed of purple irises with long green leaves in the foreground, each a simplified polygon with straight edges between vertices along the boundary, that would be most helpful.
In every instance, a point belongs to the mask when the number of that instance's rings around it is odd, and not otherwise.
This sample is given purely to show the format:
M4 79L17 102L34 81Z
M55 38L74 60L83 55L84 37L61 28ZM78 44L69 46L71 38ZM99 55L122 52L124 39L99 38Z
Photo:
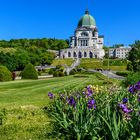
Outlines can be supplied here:
M48 96L53 132L65 139L140 138L140 82L129 90L87 86L83 92ZM55 135L54 135L55 136Z

